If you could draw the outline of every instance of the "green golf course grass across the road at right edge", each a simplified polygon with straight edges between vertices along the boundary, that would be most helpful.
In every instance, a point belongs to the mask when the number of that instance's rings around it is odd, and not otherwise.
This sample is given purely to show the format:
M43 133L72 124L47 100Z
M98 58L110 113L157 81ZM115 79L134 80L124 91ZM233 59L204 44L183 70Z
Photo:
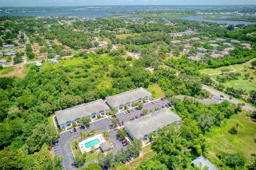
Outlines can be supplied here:
M256 59L253 59L248 63L233 65L232 67L236 70L235 73L239 72L239 73L241 73L241 76L239 76L239 79L227 81L227 82L223 83L223 85L225 87L242 88L243 90L246 90L246 91L256 90L256 75L254 74L256 69L251 69L250 68L251 62L255 61L255 60ZM244 66L247 66L247 68L246 68L247 71L244 71ZM217 68L217 69L203 69L200 72L204 73L204 74L215 74L215 73L221 72L221 69L229 69L230 71L233 71L234 70L233 68L228 66L228 67L220 67L220 68ZM247 72L250 73L250 77L253 77L253 80L250 80L250 78L249 79L244 79L244 75ZM217 76L218 75L211 75L211 77L213 79L216 79Z

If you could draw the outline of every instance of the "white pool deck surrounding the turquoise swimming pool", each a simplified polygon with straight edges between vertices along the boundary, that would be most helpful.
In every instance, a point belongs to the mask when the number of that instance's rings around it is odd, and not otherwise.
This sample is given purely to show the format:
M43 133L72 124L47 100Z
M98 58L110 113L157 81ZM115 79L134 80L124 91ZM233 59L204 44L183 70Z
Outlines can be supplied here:
M81 150L81 152L82 153L90 152L92 147L86 148L85 147L85 143L91 142L91 141L93 141L95 139L98 139L100 142L98 144L94 145L94 149L99 148L101 143L104 143L104 142L107 141L102 133L98 133L98 134L95 134L93 136L89 136L89 137L87 137L85 139L79 140L78 141L78 146L79 146L79 149Z

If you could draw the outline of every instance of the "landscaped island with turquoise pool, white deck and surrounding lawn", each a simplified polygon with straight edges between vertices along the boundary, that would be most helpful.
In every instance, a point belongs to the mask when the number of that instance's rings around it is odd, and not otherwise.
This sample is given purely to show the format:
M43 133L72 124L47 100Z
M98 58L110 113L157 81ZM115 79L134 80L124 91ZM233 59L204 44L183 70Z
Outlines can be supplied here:
M97 140L97 137L102 137L100 140L106 140L111 145L111 149L107 152L111 152L113 150L113 144L109 140L108 134L104 131L92 131L88 134L83 133L83 131L79 131L81 137L73 140L71 142L71 149L74 155L74 158L79 165L83 165L89 163L92 160L97 159L98 153L103 153L102 149L100 148L100 143L94 143L94 140ZM92 139L94 137L95 139ZM92 140L91 140L92 139ZM102 141L103 143L105 141ZM84 144L81 150L81 145ZM84 148L84 149L83 149Z

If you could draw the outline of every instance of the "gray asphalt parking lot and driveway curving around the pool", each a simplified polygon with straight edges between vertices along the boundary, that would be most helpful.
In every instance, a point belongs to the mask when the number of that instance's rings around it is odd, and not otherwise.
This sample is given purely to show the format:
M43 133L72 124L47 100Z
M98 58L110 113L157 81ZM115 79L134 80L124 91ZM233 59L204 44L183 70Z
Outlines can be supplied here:
M161 108L166 103L169 103L169 101L167 100L162 101L158 99L157 102L156 101L154 102L154 104L151 102L145 103L143 105L142 110L143 109L154 110L157 107ZM130 121L130 118L133 118L135 116L138 116L140 118L140 114L141 114L141 110L134 109L134 111L131 111L129 114L124 115L123 112L119 112L118 114L116 114L116 116L120 120L120 122L122 121L128 122ZM113 143L113 146L114 146L113 153L116 153L119 149L123 148L121 142L115 139L115 135L117 131L114 129L111 129L111 130L109 129L110 124L112 124L111 120L107 120L107 118L103 118L90 123L89 128L86 128L86 129L77 128L76 133L74 132L70 133L69 131L60 133L60 138L59 138L60 144L59 144L59 147L54 148L54 153L57 153L55 154L55 156L63 156L64 158L62 163L63 167L66 170L76 169L76 167L74 166L74 158L73 158L73 153L71 151L70 143L71 141L73 141L74 139L80 136L79 131L84 131L85 133L91 132L92 129L94 129L95 131L105 131L109 134L109 139Z

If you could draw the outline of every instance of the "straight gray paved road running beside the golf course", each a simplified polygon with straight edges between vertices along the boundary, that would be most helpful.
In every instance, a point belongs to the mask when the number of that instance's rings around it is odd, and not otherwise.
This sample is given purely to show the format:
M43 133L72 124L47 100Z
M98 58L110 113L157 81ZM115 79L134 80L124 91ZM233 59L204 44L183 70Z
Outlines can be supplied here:
M227 101L229 101L230 103L234 103L234 104L236 104L236 105L237 105L238 103L244 103L244 102L239 101L239 100L236 100L236 99L231 99L231 100L230 100L228 95L223 94L223 93L220 93L220 92L218 92L218 91L216 91L216 90L214 90L214 89L212 89L212 88L209 88L209 87L207 87L207 86L203 86L202 88L205 89L205 90L207 90L207 91L209 91L212 95L214 95L214 96L216 96L216 97L219 97L220 95L223 95L223 96L224 96L224 99L227 100ZM246 110L246 111L255 111L255 110L256 110L255 107L253 107L253 106L251 106L251 105L249 105L249 104L246 104L246 103L244 103L244 104L245 104L245 106L243 106L243 109L244 109L244 110Z

